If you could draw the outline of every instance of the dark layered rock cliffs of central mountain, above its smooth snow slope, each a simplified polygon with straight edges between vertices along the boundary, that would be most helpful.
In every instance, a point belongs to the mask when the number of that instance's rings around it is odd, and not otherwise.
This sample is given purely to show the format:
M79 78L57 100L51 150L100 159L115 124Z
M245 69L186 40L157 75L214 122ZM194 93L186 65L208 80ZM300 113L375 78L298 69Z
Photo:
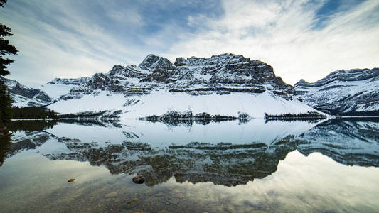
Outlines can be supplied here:
M85 83L71 89L65 99L82 97L96 90L122 93L125 96L146 94L153 89L187 94L222 94L264 92L269 90L291 99L292 86L274 75L270 65L242 55L223 54L211 58L177 58L172 64L166 58L148 55L138 66L116 65L110 72L97 73Z

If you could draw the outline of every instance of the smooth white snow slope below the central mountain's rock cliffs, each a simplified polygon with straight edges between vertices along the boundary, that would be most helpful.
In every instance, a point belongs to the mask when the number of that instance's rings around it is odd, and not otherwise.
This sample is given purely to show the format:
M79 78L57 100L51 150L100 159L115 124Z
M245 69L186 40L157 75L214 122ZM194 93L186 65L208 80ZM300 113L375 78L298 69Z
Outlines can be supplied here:
M163 115L167 111L192 111L193 114L206 112L223 116L238 116L238 112L245 112L255 118L262 118L265 113L299 114L315 111L298 100L286 100L269 91L260 94L236 92L195 96L159 90L142 96L128 97L124 97L123 94L99 92L95 95L84 95L80 99L60 100L49 108L62 114L122 109L124 119Z

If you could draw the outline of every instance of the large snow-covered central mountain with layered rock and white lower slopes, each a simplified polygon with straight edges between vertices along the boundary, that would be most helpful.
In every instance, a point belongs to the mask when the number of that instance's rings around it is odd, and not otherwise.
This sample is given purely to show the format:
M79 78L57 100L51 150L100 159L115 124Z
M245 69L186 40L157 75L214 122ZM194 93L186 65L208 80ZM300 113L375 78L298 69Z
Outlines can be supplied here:
M271 66L242 55L177 58L174 64L148 55L138 66L116 65L78 82L48 107L63 114L121 109L128 119L168 111L254 117L315 111L292 98L293 87Z

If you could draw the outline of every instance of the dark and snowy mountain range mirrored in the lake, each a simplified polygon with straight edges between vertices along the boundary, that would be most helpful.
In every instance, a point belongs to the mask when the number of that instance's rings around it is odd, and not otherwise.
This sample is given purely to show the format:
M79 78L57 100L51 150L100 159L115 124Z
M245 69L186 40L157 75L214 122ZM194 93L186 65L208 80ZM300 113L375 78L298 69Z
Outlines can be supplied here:
M378 119L325 122L265 122L252 119L183 125L130 120L14 121L11 138L1 138L0 165L46 141L50 160L88 161L112 174L143 175L146 185L177 182L241 185L277 170L289 152L318 152L344 165L379 165ZM8 141L7 141L8 140ZM10 140L10 141L9 141ZM59 146L58 146L59 144ZM59 147L59 148L57 148Z

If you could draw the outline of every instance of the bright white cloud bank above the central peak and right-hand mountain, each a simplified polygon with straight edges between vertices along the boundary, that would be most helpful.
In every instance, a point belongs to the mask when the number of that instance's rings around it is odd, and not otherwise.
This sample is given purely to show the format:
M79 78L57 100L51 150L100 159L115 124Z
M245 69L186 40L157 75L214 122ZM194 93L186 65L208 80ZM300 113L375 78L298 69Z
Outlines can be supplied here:
M172 45L167 56L242 54L269 63L292 84L301 78L318 80L333 70L378 66L379 2L364 1L323 17L323 27L315 28L324 4L225 0L220 19L188 17L188 25L200 30Z

